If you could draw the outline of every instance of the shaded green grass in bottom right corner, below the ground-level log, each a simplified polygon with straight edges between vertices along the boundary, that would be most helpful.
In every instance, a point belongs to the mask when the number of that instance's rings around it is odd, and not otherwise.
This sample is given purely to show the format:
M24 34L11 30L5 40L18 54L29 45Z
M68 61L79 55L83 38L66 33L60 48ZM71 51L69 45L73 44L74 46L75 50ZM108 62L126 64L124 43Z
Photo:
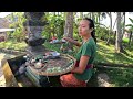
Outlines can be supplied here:
M102 73L109 75L110 84L112 84L113 87L133 87L133 68L110 68L102 69Z

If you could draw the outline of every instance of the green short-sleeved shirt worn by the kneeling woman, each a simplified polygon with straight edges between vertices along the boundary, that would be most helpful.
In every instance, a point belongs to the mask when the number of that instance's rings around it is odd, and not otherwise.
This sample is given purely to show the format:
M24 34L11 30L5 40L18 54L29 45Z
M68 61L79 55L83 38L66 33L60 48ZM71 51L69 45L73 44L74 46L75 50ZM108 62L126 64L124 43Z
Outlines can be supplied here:
M81 56L88 55L90 57L88 64L93 64L96 55L96 44L94 40L91 37L80 47L76 54L76 61L80 61ZM74 74L78 79L88 80L91 78L93 73L93 68L85 69L83 74Z

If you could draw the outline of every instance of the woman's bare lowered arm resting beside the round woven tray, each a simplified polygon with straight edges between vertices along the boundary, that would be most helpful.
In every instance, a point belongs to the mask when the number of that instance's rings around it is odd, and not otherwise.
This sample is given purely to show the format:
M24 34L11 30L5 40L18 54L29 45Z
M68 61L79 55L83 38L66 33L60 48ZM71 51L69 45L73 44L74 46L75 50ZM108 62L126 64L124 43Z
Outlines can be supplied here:
M72 73L78 73L78 74L82 74L85 68L86 68L86 65L88 65L88 62L89 62L89 56L81 56L81 59L80 59L80 63L79 63L79 67L75 67L73 68L71 72Z

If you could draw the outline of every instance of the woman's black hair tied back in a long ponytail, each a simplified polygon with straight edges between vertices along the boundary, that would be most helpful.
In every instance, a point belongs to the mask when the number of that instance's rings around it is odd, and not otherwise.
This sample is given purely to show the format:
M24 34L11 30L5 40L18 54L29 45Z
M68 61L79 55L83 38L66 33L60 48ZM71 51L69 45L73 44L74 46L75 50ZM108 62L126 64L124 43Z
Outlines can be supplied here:
M96 43L96 37L95 37L95 30L94 30L94 22L92 19L89 18L84 18L83 20L88 20L89 21L89 28L92 29L93 31L91 32L91 36L94 38L95 43Z

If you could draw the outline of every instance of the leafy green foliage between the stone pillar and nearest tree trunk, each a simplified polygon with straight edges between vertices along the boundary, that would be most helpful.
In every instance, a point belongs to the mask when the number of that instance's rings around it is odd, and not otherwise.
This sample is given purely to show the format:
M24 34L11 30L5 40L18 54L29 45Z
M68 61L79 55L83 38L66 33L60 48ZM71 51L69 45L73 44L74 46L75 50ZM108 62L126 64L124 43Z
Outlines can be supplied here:
M64 19L62 14L54 15L53 13L45 14L47 24L42 32L42 35L47 38L51 38L51 36L57 36L61 38L63 36L64 31Z

